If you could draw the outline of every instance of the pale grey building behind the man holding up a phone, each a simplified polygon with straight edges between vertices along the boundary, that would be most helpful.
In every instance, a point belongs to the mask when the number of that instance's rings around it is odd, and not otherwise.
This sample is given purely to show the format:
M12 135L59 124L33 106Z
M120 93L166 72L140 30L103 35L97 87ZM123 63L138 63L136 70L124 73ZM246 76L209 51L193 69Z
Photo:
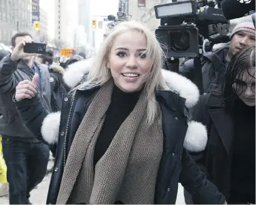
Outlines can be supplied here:
M33 35L31 0L0 0L0 42L11 45L16 32Z

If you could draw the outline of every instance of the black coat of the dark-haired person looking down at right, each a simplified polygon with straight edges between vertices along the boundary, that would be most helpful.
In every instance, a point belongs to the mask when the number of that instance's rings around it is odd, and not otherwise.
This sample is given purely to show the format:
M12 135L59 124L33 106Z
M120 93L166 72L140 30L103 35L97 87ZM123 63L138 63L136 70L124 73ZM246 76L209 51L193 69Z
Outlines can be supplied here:
M208 143L203 152L191 153L201 170L207 175L225 198L230 196L230 171L232 165L232 139L234 121L221 97L202 95L194 107L193 120L202 122L208 131ZM185 194L189 204L194 202Z

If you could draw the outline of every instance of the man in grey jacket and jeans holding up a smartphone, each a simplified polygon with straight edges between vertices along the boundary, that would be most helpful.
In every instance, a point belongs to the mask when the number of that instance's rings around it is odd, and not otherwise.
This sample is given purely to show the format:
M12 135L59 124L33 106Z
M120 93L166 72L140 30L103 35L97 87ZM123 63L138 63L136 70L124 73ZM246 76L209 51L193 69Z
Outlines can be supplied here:
M43 180L49 159L48 146L26 128L14 104L16 87L20 86L18 83L32 81L37 73L37 92L43 106L51 111L48 68L34 62L35 53L24 53L27 43L33 43L29 33L14 35L12 54L5 56L0 62L0 134L3 137L10 204L31 204L29 193Z

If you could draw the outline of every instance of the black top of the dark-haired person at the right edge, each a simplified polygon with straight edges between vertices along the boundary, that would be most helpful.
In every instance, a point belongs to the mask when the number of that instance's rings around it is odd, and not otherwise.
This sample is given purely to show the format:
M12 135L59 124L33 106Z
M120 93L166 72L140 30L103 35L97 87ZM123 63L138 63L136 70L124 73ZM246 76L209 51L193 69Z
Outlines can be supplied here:
M234 141L229 204L255 204L255 106L234 106Z

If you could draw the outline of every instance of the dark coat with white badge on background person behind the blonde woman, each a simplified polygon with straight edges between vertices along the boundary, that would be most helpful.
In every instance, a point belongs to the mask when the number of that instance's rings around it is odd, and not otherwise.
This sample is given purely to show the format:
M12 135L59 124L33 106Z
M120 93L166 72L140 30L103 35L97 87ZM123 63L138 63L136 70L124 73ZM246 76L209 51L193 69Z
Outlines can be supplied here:
M61 110L62 95L69 92L69 87L63 81L63 74L65 69L61 66L52 64L49 66L50 85L52 91L51 106L52 111L57 112Z

